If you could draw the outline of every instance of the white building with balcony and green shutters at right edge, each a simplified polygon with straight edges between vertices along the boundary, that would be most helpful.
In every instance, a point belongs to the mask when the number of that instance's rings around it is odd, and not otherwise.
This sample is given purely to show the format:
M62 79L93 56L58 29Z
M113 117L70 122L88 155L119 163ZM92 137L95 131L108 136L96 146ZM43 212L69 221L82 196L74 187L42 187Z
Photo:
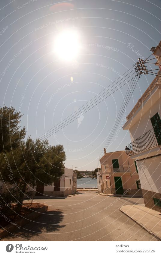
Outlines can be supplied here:
M156 57L160 46L153 49ZM137 164L145 206L161 212L161 77L156 76L126 119L123 130L130 132L129 155Z

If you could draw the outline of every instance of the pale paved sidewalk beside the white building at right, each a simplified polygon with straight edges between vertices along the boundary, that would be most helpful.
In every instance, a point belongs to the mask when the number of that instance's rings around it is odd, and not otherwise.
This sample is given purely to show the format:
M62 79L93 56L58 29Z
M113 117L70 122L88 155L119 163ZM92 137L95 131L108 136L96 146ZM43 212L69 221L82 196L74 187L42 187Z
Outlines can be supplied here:
M151 210L144 204L126 205L120 211L161 240L161 213Z

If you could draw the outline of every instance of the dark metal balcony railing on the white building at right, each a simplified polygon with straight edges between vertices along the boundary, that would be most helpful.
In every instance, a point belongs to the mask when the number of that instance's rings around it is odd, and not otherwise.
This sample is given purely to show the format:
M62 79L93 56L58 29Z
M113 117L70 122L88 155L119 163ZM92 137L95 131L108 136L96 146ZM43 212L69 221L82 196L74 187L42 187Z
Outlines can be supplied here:
M161 145L161 130L152 128L128 145L130 150L129 155L132 156L142 153L143 151L158 145Z

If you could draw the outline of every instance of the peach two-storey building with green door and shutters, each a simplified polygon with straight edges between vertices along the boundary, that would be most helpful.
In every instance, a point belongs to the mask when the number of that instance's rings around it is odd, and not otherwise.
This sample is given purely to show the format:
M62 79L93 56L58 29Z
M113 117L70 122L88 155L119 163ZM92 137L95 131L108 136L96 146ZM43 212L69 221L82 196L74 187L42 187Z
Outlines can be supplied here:
M97 172L99 193L142 196L136 163L125 151L105 151L100 164L101 170Z

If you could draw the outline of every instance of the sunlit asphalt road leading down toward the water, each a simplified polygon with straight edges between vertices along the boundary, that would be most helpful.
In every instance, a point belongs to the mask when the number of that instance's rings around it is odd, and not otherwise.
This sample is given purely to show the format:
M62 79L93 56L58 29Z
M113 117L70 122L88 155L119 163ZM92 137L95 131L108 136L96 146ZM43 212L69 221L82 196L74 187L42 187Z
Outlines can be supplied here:
M48 211L4 241L158 241L119 209L143 198L106 197L95 191L68 198L39 199Z

